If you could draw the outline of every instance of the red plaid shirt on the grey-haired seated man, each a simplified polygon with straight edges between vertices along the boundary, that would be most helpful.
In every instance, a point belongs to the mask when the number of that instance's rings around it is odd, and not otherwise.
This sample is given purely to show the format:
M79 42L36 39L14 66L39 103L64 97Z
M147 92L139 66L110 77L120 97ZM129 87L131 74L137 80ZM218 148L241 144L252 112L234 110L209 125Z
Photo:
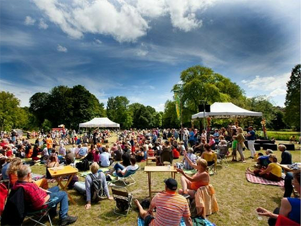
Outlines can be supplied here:
M17 181L13 190L17 190L20 187L24 188L25 201L30 204L33 209L42 209L44 207L44 198L47 196L47 193L40 189L38 185L26 181Z

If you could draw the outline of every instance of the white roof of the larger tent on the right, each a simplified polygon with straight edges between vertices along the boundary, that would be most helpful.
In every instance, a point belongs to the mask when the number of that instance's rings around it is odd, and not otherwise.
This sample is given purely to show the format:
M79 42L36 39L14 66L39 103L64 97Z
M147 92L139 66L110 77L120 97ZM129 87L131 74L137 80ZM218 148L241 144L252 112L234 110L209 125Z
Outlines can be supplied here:
M221 117L221 118L227 116L232 116L232 117L262 116L262 112L246 110L230 102L226 102L226 103L215 102L210 106L210 111L211 112L205 112L205 118L214 117L214 116ZM191 118L194 120L203 117L204 117L204 112L199 112L195 115L192 115Z

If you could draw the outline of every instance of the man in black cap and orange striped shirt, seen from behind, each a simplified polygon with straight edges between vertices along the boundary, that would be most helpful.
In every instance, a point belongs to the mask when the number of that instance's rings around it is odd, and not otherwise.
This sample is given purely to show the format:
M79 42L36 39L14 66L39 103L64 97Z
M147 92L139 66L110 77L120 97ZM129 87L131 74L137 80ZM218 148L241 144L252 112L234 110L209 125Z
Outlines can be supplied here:
M139 201L135 199L135 205L139 209L140 217L144 219L144 225L151 226L175 226L179 225L182 216L187 226L192 226L190 210L187 199L177 194L178 183L175 179L164 180L165 192L158 193L150 202L148 211L145 211ZM156 217L153 215L157 207Z

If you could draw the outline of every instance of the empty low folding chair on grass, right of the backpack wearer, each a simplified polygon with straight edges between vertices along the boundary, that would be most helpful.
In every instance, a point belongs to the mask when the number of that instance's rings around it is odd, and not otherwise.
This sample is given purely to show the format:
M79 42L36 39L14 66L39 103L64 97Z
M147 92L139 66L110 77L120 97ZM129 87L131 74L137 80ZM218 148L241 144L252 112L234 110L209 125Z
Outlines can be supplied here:
M119 187L113 185L111 189L112 189L113 198L116 201L114 213L118 215L126 216L129 210L132 208L131 201L133 199L133 195L131 193L128 193L125 187ZM116 211L117 208L120 210L120 212L126 211L126 214L117 212Z

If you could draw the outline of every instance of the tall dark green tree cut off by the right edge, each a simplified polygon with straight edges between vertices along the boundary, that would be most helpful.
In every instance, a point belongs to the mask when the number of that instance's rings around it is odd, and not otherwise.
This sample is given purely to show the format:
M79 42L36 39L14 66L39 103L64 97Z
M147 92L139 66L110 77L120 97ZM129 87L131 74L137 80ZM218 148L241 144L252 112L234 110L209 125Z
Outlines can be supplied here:
M300 131L300 64L296 65L286 83L284 121Z

